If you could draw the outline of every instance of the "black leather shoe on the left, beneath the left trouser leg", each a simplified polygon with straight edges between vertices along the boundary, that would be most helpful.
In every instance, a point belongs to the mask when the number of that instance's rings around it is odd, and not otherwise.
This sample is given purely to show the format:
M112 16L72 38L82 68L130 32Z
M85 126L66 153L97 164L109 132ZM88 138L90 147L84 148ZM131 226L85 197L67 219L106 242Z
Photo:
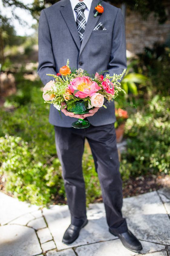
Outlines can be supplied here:
M66 229L65 233L64 233L64 236L63 236L63 240L62 242L64 244L71 244L73 243L79 236L79 232L81 230L82 227L86 226L88 223L88 220L86 219L84 221L84 223L77 227L73 224L70 224L70 226Z

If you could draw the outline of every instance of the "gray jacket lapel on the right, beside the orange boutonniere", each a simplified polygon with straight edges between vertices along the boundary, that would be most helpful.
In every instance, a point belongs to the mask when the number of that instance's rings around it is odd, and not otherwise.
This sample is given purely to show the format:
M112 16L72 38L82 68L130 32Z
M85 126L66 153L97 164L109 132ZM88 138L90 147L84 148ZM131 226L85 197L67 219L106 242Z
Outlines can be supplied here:
M96 17L94 17L94 14L96 12L94 7L97 5L98 2L99 2L98 0L93 0L92 3L91 3L89 17L88 17L86 28L85 28L85 31L84 31L83 40L82 40L81 46L80 46L79 56L82 53L85 45L87 44L87 41L89 40L90 35L91 35L96 23L98 22L98 20L100 18L101 14L98 14Z

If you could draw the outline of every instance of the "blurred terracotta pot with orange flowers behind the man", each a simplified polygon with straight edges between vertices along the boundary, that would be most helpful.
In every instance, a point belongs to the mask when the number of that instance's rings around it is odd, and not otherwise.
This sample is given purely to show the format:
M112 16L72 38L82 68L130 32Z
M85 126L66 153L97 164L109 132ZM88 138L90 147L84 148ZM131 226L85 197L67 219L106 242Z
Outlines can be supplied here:
M115 122L116 141L121 142L124 134L125 123L128 118L128 113L126 110L118 108L118 109L115 109L115 115L116 115L116 122Z

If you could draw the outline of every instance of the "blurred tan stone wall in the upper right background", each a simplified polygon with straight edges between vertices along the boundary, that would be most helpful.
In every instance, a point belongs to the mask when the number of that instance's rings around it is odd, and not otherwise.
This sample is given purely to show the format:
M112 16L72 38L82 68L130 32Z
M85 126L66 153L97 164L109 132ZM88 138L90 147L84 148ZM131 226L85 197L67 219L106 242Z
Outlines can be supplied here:
M167 9L167 12L169 10ZM153 14L147 20L137 12L126 11L126 47L131 53L141 53L144 47L152 48L154 43L164 43L170 35L170 15L164 24L159 24Z

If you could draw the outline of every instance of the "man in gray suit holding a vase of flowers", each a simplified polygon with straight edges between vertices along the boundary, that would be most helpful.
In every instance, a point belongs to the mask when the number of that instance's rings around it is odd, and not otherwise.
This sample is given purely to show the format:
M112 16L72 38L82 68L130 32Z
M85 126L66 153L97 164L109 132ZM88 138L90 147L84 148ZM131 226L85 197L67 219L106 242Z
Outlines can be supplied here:
M51 80L46 73L58 73L67 59L71 68L82 68L90 75L104 70L108 70L110 75L119 74L126 68L125 27L121 9L103 1L104 12L94 17L97 5L98 0L60 0L41 11L38 74L44 85ZM49 122L55 129L57 155L71 214L71 224L64 233L63 242L74 242L88 222L82 174L84 139L87 138L100 180L109 231L130 250L140 251L142 245L128 230L121 212L122 180L114 128L114 101L106 101L105 105L107 109L94 108L84 115L75 115L64 108L61 118L51 104ZM86 118L90 127L72 128L71 124L77 118Z

